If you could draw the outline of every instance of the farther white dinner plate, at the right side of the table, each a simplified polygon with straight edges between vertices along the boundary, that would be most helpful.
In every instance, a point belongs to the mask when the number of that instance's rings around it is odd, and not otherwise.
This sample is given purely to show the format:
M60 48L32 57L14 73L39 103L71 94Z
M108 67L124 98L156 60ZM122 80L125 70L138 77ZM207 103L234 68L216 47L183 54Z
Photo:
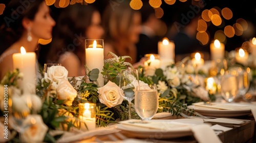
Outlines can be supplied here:
M251 114L251 109L236 109L236 110L221 110L215 108L207 108L195 105L187 106L189 109L194 109L196 112L205 116L216 117L238 117Z

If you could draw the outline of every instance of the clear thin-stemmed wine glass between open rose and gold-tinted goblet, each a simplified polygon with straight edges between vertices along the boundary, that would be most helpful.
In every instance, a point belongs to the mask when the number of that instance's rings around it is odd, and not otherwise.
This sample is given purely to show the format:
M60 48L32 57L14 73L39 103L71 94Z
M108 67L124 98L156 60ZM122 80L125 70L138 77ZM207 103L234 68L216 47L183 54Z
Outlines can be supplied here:
M123 89L123 98L129 103L129 120L132 118L131 115L131 102L134 100L136 86L139 85L138 70L127 68L121 70L119 87Z

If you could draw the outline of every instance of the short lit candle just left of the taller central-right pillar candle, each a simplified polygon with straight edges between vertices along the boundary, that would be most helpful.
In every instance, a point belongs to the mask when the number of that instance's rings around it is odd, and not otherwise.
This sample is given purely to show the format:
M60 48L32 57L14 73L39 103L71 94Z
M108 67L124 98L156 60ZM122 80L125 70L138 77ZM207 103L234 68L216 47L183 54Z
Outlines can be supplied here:
M153 76L155 74L156 69L160 68L161 61L156 58L157 56L157 54L145 55L145 57L147 58L147 60L144 62L146 76Z

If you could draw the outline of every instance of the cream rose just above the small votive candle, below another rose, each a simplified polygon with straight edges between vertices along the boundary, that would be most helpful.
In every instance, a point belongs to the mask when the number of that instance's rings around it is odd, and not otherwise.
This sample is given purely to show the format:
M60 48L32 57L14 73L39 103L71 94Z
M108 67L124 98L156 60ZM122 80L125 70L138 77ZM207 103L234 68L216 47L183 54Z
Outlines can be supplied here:
M64 104L71 106L76 96L77 91L68 80L63 79L58 83L57 97L59 100L65 100Z

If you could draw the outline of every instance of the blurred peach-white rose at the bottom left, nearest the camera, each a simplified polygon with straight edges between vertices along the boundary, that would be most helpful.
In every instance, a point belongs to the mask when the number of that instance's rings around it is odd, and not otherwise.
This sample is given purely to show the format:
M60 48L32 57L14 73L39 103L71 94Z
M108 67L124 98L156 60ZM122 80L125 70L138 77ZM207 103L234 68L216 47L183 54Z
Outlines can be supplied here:
M40 115L28 115L24 121L25 125L28 126L23 133L25 142L42 142L44 140L48 127L44 124Z

